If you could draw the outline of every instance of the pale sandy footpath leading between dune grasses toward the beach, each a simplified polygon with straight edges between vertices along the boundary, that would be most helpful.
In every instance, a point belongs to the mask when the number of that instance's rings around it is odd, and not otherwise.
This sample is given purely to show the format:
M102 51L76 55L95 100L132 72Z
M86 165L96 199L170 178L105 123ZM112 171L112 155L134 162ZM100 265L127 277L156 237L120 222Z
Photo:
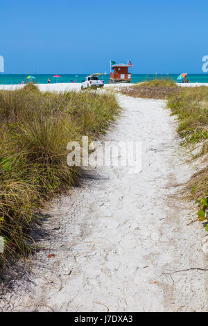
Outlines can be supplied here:
M160 100L119 95L125 109L103 140L142 141L142 171L96 169L96 179L53 205L31 275L0 299L2 311L206 311L201 237L174 197L180 164L174 118ZM185 204L186 206L186 204ZM54 253L49 259L47 255Z

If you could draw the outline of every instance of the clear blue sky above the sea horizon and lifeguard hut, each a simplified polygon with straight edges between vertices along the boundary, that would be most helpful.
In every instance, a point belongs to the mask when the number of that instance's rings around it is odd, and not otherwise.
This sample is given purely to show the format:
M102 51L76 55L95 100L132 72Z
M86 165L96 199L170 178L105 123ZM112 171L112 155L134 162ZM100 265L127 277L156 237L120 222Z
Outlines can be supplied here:
M3 3L2 3L3 2ZM6 74L202 72L208 1L10 0L0 5Z

